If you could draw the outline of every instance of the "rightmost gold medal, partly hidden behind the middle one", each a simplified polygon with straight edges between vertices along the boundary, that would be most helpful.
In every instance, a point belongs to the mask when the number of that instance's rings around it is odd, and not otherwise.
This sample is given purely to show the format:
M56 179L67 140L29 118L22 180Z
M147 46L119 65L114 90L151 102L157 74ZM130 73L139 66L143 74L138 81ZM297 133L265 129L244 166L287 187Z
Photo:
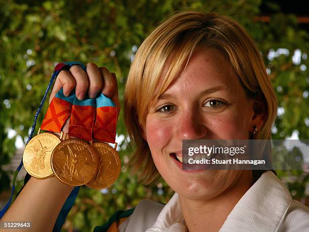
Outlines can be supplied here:
M105 143L93 143L98 162L94 177L86 183L86 186L100 190L110 187L119 177L121 162L118 153Z

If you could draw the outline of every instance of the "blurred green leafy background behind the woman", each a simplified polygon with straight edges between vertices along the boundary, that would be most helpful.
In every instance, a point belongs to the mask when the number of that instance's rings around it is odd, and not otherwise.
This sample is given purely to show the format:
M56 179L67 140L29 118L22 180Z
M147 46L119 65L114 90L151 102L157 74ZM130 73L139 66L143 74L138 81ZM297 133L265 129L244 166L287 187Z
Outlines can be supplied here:
M142 40L165 17L185 7L228 15L247 29L263 55L278 97L272 137L309 139L309 13L304 1L0 0L1 208L11 194L13 173L55 65L80 61L106 66L117 75L122 102L125 78ZM36 131L46 109L47 103ZM128 146L122 113L117 142L124 166L134 147ZM309 205L308 172L277 173L292 197ZM24 170L18 175L16 192L24 175ZM112 187L81 188L63 230L89 231L141 199L166 203L172 195L163 180L144 186L123 167Z

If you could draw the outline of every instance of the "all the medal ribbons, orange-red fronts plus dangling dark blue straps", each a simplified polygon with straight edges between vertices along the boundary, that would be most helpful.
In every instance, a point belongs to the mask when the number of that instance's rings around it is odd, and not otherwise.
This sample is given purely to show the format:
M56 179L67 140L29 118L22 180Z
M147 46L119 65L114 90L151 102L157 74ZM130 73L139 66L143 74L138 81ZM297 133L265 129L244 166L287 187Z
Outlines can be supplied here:
M50 87L52 86L54 80L56 79L60 71L69 70L72 65L80 65L86 71L85 65L80 62L59 63L55 67L52 78L50 79L47 89L45 91L44 97L35 114L32 130L29 135L27 144L33 136L37 117L43 107L43 104L46 100ZM48 110L45 114L43 123L41 125L41 129L47 131L60 132L63 124L68 119L70 114L71 114L70 125L69 125L70 135L84 138L86 140L91 140L91 137L93 137L100 141L115 143L117 110L115 104L111 101L111 99L101 94L95 100L86 99L85 101L78 101L74 93L71 94L69 97L65 97L63 94L63 90L61 89L50 103ZM95 114L95 116L91 116L93 114ZM0 211L0 218L3 217L3 215L6 213L12 202L13 194L15 191L16 177L22 166L23 161L21 160L17 170L14 173L12 193L10 199L5 205L5 207ZM24 179L24 186L29 179L30 175L27 173ZM24 188L24 186L22 187L22 189ZM67 198L64 206L62 207L58 215L53 231L61 230L61 227L64 224L65 219L74 204L79 188L80 187L75 187L71 192L71 194L69 195L69 197ZM19 193L22 191L22 189L19 191Z

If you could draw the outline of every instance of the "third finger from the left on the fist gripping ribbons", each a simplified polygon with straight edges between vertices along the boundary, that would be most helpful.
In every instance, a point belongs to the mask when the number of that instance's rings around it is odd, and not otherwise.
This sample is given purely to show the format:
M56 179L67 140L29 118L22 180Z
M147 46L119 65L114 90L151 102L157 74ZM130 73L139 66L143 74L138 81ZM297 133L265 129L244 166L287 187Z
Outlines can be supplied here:
M94 63L88 63L86 65L87 74L89 78L89 89L88 95L89 98L96 98L98 92L102 88L102 77L99 68Z

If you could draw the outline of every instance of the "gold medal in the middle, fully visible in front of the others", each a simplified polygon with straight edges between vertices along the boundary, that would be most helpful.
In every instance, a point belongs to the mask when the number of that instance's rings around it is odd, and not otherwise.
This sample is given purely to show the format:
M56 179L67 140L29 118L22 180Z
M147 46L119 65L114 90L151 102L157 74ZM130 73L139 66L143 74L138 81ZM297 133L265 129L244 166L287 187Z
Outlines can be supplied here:
M89 144L71 138L54 149L51 163L52 170L60 181L70 186L79 186L94 176L97 156Z

